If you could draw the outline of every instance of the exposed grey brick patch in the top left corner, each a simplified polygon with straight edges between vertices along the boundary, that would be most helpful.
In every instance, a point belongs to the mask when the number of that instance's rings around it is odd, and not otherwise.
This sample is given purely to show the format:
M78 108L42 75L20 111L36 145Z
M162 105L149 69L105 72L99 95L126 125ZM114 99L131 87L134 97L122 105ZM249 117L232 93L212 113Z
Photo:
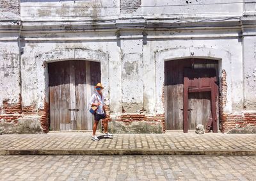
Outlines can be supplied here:
M11 12L16 15L20 14L20 0L1 0L0 12Z

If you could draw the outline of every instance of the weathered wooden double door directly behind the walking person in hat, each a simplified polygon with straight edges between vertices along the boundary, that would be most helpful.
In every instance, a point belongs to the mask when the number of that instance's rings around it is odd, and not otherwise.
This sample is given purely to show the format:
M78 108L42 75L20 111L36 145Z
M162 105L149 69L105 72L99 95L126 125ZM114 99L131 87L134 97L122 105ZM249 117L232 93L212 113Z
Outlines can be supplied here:
M51 129L92 129L88 102L100 82L100 63L60 61L49 63L48 70Z

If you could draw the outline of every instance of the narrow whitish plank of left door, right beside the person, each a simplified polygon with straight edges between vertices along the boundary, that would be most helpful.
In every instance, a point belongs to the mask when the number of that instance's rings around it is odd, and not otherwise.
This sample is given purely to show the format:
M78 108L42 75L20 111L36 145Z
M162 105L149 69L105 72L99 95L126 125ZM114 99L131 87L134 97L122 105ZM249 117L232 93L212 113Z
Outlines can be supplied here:
M85 62L85 68L86 68L86 72L85 72L85 78L86 78L86 105L84 105L84 107L86 107L86 118L87 118L87 129L88 130L92 130L92 125L93 125L93 116L91 113L89 113L89 109L90 106L88 105L91 97L92 97L92 88L91 88L91 71L90 71L90 61L86 61Z

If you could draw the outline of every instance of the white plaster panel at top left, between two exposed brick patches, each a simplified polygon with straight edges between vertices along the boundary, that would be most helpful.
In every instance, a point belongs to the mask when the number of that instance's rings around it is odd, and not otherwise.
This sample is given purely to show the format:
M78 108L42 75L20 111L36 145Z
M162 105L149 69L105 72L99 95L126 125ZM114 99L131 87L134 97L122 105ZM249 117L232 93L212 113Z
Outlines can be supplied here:
M20 0L20 13L24 18L111 17L119 13L119 1L48 1ZM33 7L33 8L31 8Z

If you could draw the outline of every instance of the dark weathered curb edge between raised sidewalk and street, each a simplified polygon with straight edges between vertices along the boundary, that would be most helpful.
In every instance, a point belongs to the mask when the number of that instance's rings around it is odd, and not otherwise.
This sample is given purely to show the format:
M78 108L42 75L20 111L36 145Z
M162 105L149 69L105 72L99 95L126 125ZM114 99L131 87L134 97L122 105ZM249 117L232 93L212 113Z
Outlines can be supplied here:
M88 149L88 150L0 150L0 155L256 155L256 150L143 150L143 149Z

